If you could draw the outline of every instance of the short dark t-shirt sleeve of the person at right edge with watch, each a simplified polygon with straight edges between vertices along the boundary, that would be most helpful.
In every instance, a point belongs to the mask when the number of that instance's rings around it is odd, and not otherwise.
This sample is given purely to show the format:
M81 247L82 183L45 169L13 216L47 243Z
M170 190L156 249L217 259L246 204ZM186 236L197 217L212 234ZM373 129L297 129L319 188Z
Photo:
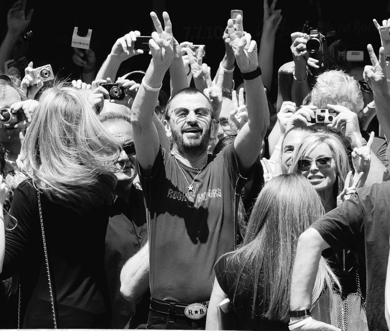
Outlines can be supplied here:
M370 187L358 189L349 200L334 208L311 225L334 252L364 249L364 218L370 205Z

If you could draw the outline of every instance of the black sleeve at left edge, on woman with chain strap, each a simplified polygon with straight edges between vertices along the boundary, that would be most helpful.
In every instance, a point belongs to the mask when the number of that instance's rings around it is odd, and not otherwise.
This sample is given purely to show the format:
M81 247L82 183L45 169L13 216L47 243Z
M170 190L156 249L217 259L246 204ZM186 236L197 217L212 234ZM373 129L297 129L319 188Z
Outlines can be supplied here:
M18 220L18 225L15 229L7 230L5 233L5 256L1 279L11 277L20 269L29 253L33 251L35 243L42 242L40 223L36 214L38 200L33 195L34 192L35 189L26 182L22 182L15 189L9 212Z

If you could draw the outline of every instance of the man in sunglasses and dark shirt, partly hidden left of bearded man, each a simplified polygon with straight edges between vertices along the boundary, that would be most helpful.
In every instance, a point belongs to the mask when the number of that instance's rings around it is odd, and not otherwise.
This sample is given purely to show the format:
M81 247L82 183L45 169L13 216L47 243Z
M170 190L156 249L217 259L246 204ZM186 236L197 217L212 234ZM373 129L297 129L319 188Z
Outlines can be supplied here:
M135 307L120 294L120 270L148 240L142 191L135 185L137 178L136 149L129 115L107 112L100 116L105 129L122 146L116 173L117 187L110 211L105 239L105 269L112 304L112 328L123 329L129 319L146 323L148 305ZM136 313L136 315L135 315Z

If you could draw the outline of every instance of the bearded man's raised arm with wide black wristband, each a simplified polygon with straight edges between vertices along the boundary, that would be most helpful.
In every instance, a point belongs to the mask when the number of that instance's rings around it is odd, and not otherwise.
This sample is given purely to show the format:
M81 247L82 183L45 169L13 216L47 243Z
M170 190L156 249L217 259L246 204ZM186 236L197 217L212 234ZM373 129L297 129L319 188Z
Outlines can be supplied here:
M242 26L241 15L237 16L237 31L233 21L228 21L228 29L235 61L244 79L247 97L248 122L234 140L240 171L245 174L254 164L261 149L261 143L270 124L267 98L261 81L261 70L257 62L256 41L246 33Z

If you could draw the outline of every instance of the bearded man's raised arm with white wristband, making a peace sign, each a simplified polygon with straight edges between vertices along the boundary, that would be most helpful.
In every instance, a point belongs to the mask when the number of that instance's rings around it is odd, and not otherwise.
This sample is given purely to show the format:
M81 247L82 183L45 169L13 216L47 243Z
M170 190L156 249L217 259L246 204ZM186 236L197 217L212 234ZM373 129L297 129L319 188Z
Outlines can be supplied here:
M153 114L158 98L158 91L171 62L173 61L173 35L171 20L167 12L163 12L164 30L155 12L151 12L157 32L152 33L149 41L152 61L139 87L132 106L132 126L134 144L137 149L137 160L145 176L149 175L159 150L159 140Z

